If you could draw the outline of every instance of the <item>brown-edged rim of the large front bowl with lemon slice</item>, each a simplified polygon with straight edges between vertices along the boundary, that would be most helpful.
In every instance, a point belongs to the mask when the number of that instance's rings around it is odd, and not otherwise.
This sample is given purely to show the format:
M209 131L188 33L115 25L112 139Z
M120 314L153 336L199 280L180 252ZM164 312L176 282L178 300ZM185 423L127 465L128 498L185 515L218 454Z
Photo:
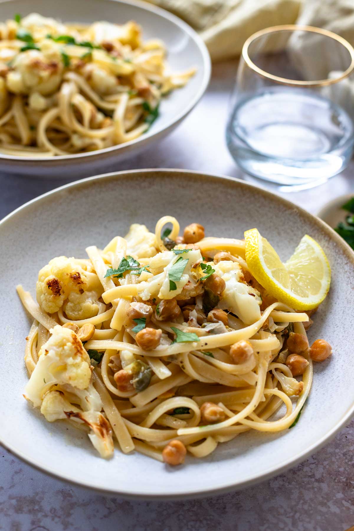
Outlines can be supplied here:
M218 175L218 174L210 174L210 173L204 173L204 172L195 172L194 170L183 170L183 169L171 169L171 168L159 168L159 169L139 169L139 170L124 170L122 172L111 172L101 175L96 175L93 177L88 177L85 179L81 179L79 181L75 181L73 183L65 184L63 186L59 186L58 188L51 190L50 192L46 192L45 194L39 195L37 198L32 199L31 201L28 201L27 203L23 204L21 207L17 208L10 214L8 214L5 218L3 218L0 221L0 230L2 227L7 224L8 222L12 222L15 220L16 215L21 212L22 210L25 210L29 205L33 203L39 203L41 201L45 201L48 197L51 195L61 193L64 190L77 188L80 189L81 187L90 187L94 186L94 183L98 181L105 180L111 181L111 180L119 180L121 178L126 178L131 175L135 176L141 176L146 177L151 174L151 177L158 178L161 174L161 177L166 176L166 174L170 174L171 177L179 175L186 178L194 178L194 179L200 179L201 181L205 182L205 179L207 179L209 182L219 182L220 179L224 182L228 182L230 187L243 187L247 189L254 189L258 194L263 194L264 198L271 198L273 201L278 201L283 207L290 208L291 210L295 210L299 215L303 218L305 218L307 221L309 221L311 224L315 224L318 229L321 229L322 232L330 237L331 239L334 239L335 243L340 247L342 250L342 253L346 255L348 258L348 261L353 264L354 268L354 253L351 250L350 246L344 242L344 240L324 221L322 221L320 218L317 218L316 216L313 216L306 210L304 210L301 207L298 207L298 205L292 203L291 201L288 201L287 199L283 199L277 194L273 194L272 192L269 192L267 190L264 190L258 186L255 186L253 184L245 183L244 181L241 181L241 179L237 179L234 177L228 177L225 175ZM346 426L350 420L354 417L354 400L352 405L348 408L347 412L342 415L342 417L338 420L338 422L335 424L334 427L332 427L329 432L326 433L321 439L319 439L317 442L309 446L306 450L299 452L297 455L284 460L282 463L276 466L270 467L266 472L264 472L262 475L254 475L253 477L246 479L245 481L241 483L230 483L227 482L222 487L218 487L218 489L208 489L206 487L203 491L198 492L189 492L186 494L166 494L166 495L147 495L143 492L136 492L136 493L126 493L121 492L116 489L99 489L98 487L91 486L87 483L84 483L82 481L76 481L73 477L68 477L65 474L58 474L54 470L51 470L50 468L46 468L39 463L36 462L35 459L30 459L28 456L24 455L23 452L18 450L13 450L12 448L8 447L6 442L2 440L2 436L0 433L0 444L4 448L6 448L8 451L10 451L13 455L16 457L19 457L22 459L25 463L28 463L29 465L33 466L34 468L37 468L41 472L45 472L46 474L55 477L56 479L60 479L61 481L66 481L68 483L71 483L73 485L78 485L81 487L84 487L89 490L93 490L96 492L100 492L102 494L110 495L110 496L121 496L125 499L145 499L145 500L179 500L179 499L195 499L195 498L206 498L208 496L213 495L219 495L223 493L227 493L230 491L237 491L241 489L245 489L248 486L255 485L257 483L261 483L263 481L266 481L266 479L269 479L275 475L281 474L283 472L286 472L289 468L297 465L301 461L304 461L306 458L310 457L315 453L316 451L320 450L324 444L329 443L336 433L339 432L344 426Z

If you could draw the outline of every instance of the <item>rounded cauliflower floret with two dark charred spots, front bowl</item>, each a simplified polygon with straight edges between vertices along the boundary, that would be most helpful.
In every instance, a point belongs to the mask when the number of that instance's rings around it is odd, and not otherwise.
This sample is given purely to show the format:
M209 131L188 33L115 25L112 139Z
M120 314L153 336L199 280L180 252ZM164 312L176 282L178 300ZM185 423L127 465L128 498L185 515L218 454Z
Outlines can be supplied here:
M81 266L73 258L58 256L38 273L37 301L43 310L55 313L72 292L83 294L87 287L87 278Z

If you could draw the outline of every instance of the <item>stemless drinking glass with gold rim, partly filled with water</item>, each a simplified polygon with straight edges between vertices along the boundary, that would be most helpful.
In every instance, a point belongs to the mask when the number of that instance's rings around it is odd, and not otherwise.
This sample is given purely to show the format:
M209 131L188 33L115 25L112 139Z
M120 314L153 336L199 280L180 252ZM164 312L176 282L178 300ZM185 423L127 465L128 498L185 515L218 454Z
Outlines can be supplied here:
M345 168L354 144L354 49L331 31L282 25L244 44L227 124L248 174L298 185Z

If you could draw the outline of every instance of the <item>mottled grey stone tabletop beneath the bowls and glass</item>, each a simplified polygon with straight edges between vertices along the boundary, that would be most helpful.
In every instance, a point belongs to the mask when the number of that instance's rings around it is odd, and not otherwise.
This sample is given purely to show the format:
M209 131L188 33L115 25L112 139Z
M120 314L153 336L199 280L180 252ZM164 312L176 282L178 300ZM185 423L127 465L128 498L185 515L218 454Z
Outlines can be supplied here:
M353 162L329 182L292 193L240 173L225 145L235 68L234 62L214 67L205 97L168 138L151 151L103 171L170 167L231 175L280 193L312 213L335 196L354 194ZM50 176L47 180L35 180L0 175L0 218L66 182L64 177L51 181ZM351 422L316 455L265 483L215 498L144 502L108 498L65 484L0 448L0 529L344 531L354 525L353 451L354 422ZM53 456L56 458L59 456Z

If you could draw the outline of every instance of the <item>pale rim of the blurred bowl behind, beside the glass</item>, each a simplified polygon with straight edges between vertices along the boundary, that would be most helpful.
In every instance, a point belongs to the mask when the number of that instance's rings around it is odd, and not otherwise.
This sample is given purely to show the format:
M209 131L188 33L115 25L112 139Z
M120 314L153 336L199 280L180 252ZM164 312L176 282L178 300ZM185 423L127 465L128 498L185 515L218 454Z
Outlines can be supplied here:
M0 0L0 6L3 3L7 3L9 1L12 1L14 4L16 0ZM170 13L169 11L166 11L165 9L162 9L161 7L158 7L154 4L148 4L147 2L141 2L140 0L108 0L109 2L116 2L117 4L126 4L131 5L133 7L141 8L145 11L150 11L152 13L155 13L156 15L160 16L162 19L166 19L173 24L175 24L180 30L182 30L184 33L186 33L191 39L195 42L196 46L201 52L202 60L203 60L203 68L204 68L204 75L203 80L200 84L199 90L196 92L194 97L189 101L186 102L185 108L179 112L177 115L171 117L169 122L162 127L162 129L157 129L153 133L150 134L143 134L141 136L138 136L138 138L131 140L129 142L124 142L123 144L117 144L112 145L109 148L103 148L98 149L96 151L89 151L85 153L73 153L72 155L57 155L55 157L20 157L16 155L3 155L0 153L0 161L14 161L14 162L36 162L40 164L40 162L46 162L48 167L60 165L61 162L67 162L67 161L73 161L79 162L81 160L85 161L91 161L92 159L97 159L101 155L107 155L108 153L113 153L115 151L125 151L127 149L134 149L135 145L144 144L146 142L152 142L153 140L156 140L159 135L163 134L163 132L169 131L174 125L177 125L179 122L181 122L190 112L191 110L196 106L198 101L202 98L204 95L205 90L208 88L209 82L210 82L210 76L211 76L211 58L210 54L208 52L208 48L206 48L206 45L204 44L203 39L198 35L198 33L189 26L186 22L184 22L182 19L178 18L178 16ZM53 164L51 164L53 162Z

